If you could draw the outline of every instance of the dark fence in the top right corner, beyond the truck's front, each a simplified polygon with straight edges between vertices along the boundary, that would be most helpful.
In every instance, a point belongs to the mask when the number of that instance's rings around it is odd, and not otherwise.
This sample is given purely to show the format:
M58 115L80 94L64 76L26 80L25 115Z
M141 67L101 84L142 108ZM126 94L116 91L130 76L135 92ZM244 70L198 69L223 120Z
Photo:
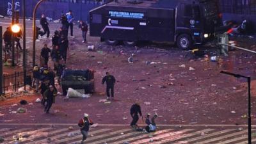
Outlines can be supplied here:
M220 0L220 8L223 13L256 15L255 0Z

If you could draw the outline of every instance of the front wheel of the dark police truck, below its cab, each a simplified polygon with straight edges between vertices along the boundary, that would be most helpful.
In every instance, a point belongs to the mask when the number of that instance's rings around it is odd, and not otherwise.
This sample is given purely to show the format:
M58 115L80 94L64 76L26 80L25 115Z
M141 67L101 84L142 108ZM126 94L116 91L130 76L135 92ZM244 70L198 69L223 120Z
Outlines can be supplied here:
M182 50L188 50L192 45L192 38L187 34L179 35L177 38L177 46Z

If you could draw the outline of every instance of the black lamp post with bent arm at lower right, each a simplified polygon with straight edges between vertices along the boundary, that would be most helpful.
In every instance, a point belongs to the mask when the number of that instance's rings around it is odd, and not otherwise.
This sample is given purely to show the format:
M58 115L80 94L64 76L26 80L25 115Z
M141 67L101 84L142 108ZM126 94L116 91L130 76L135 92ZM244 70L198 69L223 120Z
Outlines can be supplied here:
M231 72L221 71L221 74L227 74L234 77L244 77L248 83L248 144L252 144L252 120L251 120L251 77L233 74Z

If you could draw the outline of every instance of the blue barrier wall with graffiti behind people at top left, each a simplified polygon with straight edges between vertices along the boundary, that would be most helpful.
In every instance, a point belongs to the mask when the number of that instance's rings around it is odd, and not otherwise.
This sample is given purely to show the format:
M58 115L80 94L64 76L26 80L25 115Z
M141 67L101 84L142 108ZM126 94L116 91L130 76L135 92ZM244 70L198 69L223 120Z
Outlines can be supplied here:
M26 0L26 17L33 16L33 8L38 0ZM85 3L67 3L58 1L44 1L38 7L36 11L36 17L40 18L42 13L45 13L47 17L52 19L60 19L61 13L67 13L68 10L72 10L76 20L88 20L88 12L93 8L100 6L93 0L86 0ZM20 10L22 15L22 1L15 0L15 9ZM0 15L12 15L12 1L0 0Z

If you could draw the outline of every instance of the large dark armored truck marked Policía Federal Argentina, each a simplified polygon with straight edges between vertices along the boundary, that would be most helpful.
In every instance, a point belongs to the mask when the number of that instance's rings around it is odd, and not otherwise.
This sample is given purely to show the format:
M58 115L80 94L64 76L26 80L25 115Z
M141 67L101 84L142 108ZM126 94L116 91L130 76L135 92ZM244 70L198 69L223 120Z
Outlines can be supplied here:
M212 40L221 17L218 0L118 0L90 11L90 35L109 45L175 42L186 50Z

